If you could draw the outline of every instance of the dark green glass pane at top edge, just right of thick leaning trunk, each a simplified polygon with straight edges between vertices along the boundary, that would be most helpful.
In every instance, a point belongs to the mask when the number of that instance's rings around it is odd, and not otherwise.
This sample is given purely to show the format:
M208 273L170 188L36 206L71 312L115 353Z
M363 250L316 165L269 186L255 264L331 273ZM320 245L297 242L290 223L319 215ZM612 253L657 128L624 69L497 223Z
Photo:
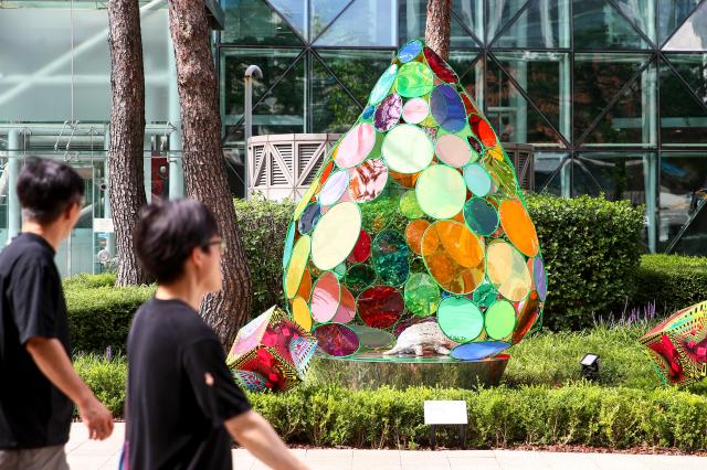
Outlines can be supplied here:
M264 0L224 0L225 28L221 41L229 44L298 45L297 34Z

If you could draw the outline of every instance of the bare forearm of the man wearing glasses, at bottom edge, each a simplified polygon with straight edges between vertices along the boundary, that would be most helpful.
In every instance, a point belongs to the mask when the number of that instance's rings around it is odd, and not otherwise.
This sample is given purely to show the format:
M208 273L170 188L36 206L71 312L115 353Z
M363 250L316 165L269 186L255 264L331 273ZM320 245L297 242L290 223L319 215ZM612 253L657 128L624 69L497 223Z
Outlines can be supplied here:
M275 470L308 468L287 449L270 423L255 412L245 412L229 419L225 427L233 439Z

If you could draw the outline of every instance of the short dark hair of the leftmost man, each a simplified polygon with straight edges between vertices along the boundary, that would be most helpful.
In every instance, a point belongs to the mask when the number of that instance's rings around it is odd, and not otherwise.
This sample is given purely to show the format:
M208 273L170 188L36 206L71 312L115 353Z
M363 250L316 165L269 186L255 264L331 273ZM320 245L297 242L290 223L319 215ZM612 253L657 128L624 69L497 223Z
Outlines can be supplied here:
M20 171L17 192L25 218L50 224L81 203L84 181L66 163L32 157Z

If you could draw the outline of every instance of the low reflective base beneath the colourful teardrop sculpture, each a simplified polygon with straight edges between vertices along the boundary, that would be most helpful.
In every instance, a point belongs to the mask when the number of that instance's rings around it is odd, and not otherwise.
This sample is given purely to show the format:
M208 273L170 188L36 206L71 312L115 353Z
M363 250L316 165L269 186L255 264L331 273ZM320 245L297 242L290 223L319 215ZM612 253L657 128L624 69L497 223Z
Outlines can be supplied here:
M458 361L450 356L382 355L366 351L348 357L316 355L309 378L348 388L409 386L477 388L498 385L510 359L498 354L482 361Z

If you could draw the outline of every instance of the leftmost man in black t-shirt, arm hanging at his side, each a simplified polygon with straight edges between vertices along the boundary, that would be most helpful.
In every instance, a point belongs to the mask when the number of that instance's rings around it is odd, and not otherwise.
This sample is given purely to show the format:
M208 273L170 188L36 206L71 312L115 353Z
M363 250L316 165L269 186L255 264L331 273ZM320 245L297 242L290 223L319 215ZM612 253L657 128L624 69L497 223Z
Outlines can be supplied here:
M64 163L30 159L18 178L22 233L0 253L0 470L67 469L74 402L92 439L113 418L74 371L59 244L78 220L83 181Z

